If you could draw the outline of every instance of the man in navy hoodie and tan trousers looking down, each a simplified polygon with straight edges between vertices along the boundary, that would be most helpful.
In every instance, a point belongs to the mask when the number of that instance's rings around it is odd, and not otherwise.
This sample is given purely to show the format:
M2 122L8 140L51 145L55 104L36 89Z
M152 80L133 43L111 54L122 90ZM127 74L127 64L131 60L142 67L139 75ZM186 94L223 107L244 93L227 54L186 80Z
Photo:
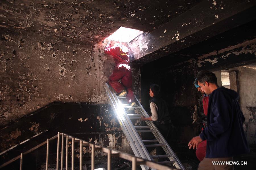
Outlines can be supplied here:
M206 156L199 163L198 170L232 170L229 161L233 156L249 153L249 146L243 130L245 117L237 102L238 94L234 90L218 87L215 74L200 71L198 85L210 95L207 127L189 141L189 149L207 140ZM215 161L224 161L224 165L213 165Z

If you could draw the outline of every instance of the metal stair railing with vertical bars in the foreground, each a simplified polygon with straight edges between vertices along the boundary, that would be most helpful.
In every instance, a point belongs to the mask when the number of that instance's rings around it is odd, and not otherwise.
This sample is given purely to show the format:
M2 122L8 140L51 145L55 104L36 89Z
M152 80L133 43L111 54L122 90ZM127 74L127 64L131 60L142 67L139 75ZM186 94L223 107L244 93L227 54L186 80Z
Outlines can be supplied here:
M56 169L58 170L59 169L59 140L60 140L60 135L62 135L61 137L61 170L63 170L63 157L64 157L64 137L66 137L66 169L68 167L68 140L69 139L72 139L72 157L71 157L71 169L74 170L74 143L75 141L79 141L80 143L80 159L79 159L79 166L80 166L80 170L82 170L82 146L89 146L91 147L91 169L94 170L94 160L95 160L95 151L96 150L102 150L103 152L107 153L108 155L108 162L107 162L107 169L108 170L111 170L111 158L112 157L119 157L119 158L122 158L122 159L125 159L125 160L128 160L128 161L131 161L132 162L132 170L136 170L136 166L137 165L146 165L148 167L151 167L151 168L155 168L155 169L158 169L158 170L178 170L176 168L171 168L171 167L168 167L166 165L161 165L159 163L156 163L156 162L152 162L152 161L149 161L149 160L145 160L145 159L142 159L142 158L138 158L134 155L131 155L131 154L127 154L127 153L124 153L124 152L120 152L120 151L116 151L116 150L112 150L112 149L109 149L107 147L102 147L100 145L95 145L94 143L89 143L87 141L84 141L82 139L79 139L79 138L76 138L76 137L73 137L71 135L68 135L68 134L65 134L65 133L60 133L58 132L57 135L51 137L50 139L47 139L47 141L44 141L42 143L40 143L39 145L33 147L32 149L30 150L27 150L26 152L23 152L23 153L20 153L19 156L16 156L15 158L9 160L8 162L2 164L0 166L0 168L3 168L5 167L6 165L14 162L15 160L19 159L20 158L20 170L22 170L22 161L23 161L23 156L28 154L29 152L32 152L33 150L35 149L38 149L39 147L43 146L44 144L47 144L47 147L46 147L46 170L48 170L48 159L49 159L49 141L55 139L55 138L58 138L57 140L57 159L56 159Z

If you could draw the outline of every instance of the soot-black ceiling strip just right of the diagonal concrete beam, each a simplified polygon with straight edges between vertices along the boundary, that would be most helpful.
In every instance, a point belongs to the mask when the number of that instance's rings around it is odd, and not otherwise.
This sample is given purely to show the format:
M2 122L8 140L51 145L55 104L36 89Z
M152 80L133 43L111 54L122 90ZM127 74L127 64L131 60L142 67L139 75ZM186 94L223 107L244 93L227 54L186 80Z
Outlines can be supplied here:
M253 20L246 24L225 31L224 33L208 38L205 41L199 42L197 44L194 44L175 53L166 55L165 57L161 57L155 60L154 68L158 68L161 70L166 67L174 67L176 64L185 61L196 61L198 57L201 57L203 55L207 55L209 53L218 54L220 50L242 44L246 41L253 40L256 38L255 27L256 22L255 20ZM245 59L245 57L243 57L243 59ZM240 65L241 64L243 65L244 63L240 63Z

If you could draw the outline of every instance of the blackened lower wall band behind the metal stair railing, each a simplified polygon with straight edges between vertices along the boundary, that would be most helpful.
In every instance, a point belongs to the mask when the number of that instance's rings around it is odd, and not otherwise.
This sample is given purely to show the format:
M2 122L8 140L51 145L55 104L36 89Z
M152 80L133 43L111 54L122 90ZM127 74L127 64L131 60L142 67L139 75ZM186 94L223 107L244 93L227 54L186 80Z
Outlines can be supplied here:
M0 152L44 130L48 130L48 132L1 155L1 164L18 156L20 152L24 152L46 141L47 138L56 135L58 132L64 132L111 149L133 153L109 105L61 102L51 103L47 107L35 111L32 115L25 116L6 128L1 129ZM56 139L50 143L50 164L56 163L56 145ZM79 155L79 145L76 144L75 146L77 148L75 156L79 158L77 156ZM71 143L69 147L69 152L71 152ZM90 148L83 147L84 157L90 156L90 152ZM45 163L45 153L46 146L43 146L25 157L30 159L28 159L28 162L33 166L40 166L41 163ZM103 153L96 151L96 156L103 156ZM24 166L30 163L24 163ZM13 169L15 166L15 163L11 164L7 169ZM29 169L36 168L30 167Z

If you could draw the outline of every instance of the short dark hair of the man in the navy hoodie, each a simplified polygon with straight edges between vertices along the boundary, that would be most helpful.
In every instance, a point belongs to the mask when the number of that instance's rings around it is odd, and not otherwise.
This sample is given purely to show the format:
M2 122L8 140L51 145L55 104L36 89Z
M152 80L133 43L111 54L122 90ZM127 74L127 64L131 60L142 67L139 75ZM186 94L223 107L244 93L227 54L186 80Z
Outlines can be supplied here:
M208 70L202 70L197 74L197 81L200 83L203 83L205 85L205 81L208 83L217 84L217 78L213 72L210 72Z

